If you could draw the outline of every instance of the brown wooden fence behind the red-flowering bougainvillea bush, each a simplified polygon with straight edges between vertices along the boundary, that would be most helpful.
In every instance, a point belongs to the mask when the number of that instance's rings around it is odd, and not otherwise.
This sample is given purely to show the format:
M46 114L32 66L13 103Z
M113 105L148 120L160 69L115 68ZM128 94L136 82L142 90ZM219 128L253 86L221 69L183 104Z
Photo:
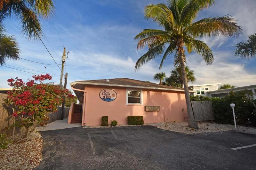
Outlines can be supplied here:
M4 99L6 99L7 94L0 93L0 134L12 135L12 128L7 129L8 126L12 125L12 108L6 108L4 106ZM64 109L64 118L68 117L69 108L65 107ZM49 113L48 123L60 120L61 107L58 107L57 112ZM35 125L39 126L38 123ZM15 134L23 131L25 128L15 127Z

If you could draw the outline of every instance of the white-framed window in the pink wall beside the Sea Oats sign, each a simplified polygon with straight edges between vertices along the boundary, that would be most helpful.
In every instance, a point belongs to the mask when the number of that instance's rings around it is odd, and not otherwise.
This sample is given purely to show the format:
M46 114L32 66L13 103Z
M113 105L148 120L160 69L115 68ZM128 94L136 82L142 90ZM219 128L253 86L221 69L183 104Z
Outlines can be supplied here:
M126 105L143 105L142 90L126 89Z

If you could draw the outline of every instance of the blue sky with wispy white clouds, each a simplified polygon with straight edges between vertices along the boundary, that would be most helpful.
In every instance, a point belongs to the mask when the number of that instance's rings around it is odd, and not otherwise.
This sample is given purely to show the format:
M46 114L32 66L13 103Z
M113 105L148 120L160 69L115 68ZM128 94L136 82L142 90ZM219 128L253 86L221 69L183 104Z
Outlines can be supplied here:
M168 76L173 69L173 55L170 55L159 70L161 57L134 70L136 61L147 52L147 48L137 50L134 36L142 29L163 29L151 19L144 19L144 7L149 4L164 3L164 0L56 0L51 18L41 19L45 37L43 42L57 63L61 63L63 46L69 51L64 72L68 73L69 83L78 80L110 78L131 78L157 82L153 79L157 72ZM212 49L214 62L207 66L196 53L187 54L187 63L195 71L196 84L222 83L235 86L256 84L256 58L244 60L234 56L236 43L247 40L256 32L255 0L217 0L212 7L200 11L196 20L220 17L227 14L236 18L243 29L239 38L202 38ZM41 42L29 41L21 34L21 25L15 17L3 21L8 35L13 35L19 43L20 57L37 62L54 64ZM56 27L56 29L55 29ZM59 35L58 35L59 34ZM56 65L37 64L26 60L6 62L7 67L27 68L36 74L51 73L52 82L60 82L60 70ZM46 66L46 69L45 67ZM31 78L30 73L0 66L0 88L8 88L7 79ZM43 73L42 73L43 74ZM56 74L56 75L53 75ZM55 77L56 76L56 77Z

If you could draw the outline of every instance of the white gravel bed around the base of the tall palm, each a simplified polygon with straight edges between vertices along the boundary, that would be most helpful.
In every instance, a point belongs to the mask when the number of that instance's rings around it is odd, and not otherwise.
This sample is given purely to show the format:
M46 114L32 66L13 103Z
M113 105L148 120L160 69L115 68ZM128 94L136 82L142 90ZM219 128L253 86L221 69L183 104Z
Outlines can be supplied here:
M204 132L218 132L218 131L234 131L235 127L231 124L216 124L210 122L198 122L199 130L188 128L188 122L165 122L165 123L147 123L160 129L168 131L176 131L180 133L192 134L192 133L204 133ZM255 132L255 128L236 126L237 130Z

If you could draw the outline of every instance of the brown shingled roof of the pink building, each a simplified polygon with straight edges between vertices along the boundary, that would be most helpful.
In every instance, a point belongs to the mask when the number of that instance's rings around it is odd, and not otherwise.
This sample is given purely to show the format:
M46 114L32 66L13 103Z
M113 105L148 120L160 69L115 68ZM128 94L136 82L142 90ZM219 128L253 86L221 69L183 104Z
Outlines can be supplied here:
M109 80L109 81L107 81ZM128 78L116 78L116 79L100 79L100 80L85 80L85 81L75 81L73 83L70 83L71 85L74 84L100 84L100 85L120 85L120 86L138 86L138 87L148 87L148 88L160 88L160 89L179 89L184 90L182 88L172 87L172 86L166 86L163 84L156 84L146 81L140 81L140 80L134 80L134 79L128 79Z

